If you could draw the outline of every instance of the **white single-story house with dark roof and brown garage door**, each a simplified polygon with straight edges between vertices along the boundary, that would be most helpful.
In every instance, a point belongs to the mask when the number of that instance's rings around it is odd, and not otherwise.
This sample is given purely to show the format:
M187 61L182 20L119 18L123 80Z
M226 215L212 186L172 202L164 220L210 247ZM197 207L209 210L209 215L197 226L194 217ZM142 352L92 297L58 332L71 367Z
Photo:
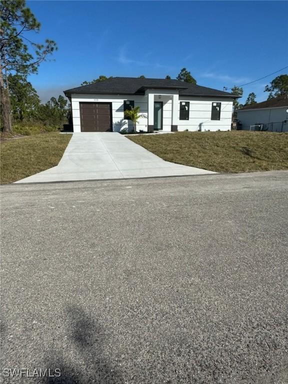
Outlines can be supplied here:
M64 91L72 104L73 131L131 129L124 110L139 105L137 130L229 130L228 92L158 78L113 77Z

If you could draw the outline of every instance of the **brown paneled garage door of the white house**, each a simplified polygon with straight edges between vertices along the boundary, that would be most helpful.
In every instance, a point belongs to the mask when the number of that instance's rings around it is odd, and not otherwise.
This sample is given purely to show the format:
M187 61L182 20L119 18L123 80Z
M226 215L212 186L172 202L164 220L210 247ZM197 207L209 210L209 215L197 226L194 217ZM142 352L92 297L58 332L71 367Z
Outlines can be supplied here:
M111 130L110 103L80 102L82 132L106 132Z

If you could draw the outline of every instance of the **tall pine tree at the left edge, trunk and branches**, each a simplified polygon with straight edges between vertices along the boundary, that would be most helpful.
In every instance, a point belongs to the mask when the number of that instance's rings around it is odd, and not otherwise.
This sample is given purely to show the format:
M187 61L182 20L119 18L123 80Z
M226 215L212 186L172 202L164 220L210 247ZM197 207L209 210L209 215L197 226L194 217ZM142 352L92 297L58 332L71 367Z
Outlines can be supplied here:
M29 31L39 31L40 23L24 0L2 0L0 2L0 97L3 131L12 132L11 105L8 92L7 74L27 76L36 73L39 64L56 47L53 40L46 39L44 44L26 38ZM27 45L29 41L29 46Z

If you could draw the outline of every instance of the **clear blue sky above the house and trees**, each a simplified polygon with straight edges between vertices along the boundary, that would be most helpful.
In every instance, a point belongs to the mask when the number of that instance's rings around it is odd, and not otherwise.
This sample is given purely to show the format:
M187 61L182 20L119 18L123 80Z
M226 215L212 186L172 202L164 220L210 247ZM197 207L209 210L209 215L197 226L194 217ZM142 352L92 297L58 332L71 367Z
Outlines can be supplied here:
M58 45L29 81L46 101L100 74L175 78L222 89L288 65L287 1L27 1ZM275 76L243 87L267 98Z

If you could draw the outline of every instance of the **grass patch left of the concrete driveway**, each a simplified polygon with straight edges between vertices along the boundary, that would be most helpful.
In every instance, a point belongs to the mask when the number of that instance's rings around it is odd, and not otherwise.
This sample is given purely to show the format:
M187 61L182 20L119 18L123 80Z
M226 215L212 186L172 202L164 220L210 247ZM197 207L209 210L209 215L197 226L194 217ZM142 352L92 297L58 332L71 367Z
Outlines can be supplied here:
M0 144L0 181L7 184L58 164L70 134L49 132Z

